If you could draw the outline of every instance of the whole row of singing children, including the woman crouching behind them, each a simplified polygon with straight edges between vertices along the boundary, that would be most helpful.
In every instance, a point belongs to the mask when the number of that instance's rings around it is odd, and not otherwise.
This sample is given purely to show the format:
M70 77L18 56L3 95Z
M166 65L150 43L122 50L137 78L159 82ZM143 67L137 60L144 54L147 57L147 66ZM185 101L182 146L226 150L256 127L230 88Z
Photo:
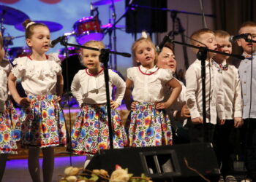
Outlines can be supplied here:
M43 179L51 181L54 146L67 146L64 114L59 106L63 89L61 62L57 55L45 54L50 41L50 31L46 25L30 20L23 25L26 28L26 44L32 53L15 59L14 68L3 59L4 50L0 40L0 71L3 72L0 80L0 89L3 90L0 93L0 181L7 154L17 153L16 142L19 140L20 146L29 149L28 164L32 180L40 181L39 151L42 149ZM249 39L255 39L256 24L250 22L241 25L239 33L251 33ZM192 33L191 43L231 53L229 36L225 31L201 29ZM101 41L89 41L85 45L105 48ZM113 138L115 149L173 145L176 133L173 128L182 121L184 128L188 128L190 142L208 141L216 144L217 157L222 162L222 175L226 181L232 181L236 180L228 160L232 151L225 149L232 149L233 143L229 140L231 132L241 127L244 119L245 164L249 177L256 180L256 100L252 97L256 89L253 73L256 65L252 61L255 59L256 46L244 39L239 39L238 45L246 56L238 69L227 63L227 57L208 52L204 124L200 60L195 60L189 66L185 87L173 76L176 60L170 44L165 44L162 52L157 54L148 37L135 41L132 56L138 66L127 69L126 82L114 71L108 70L110 93L113 85L116 86L114 100L110 94L113 136L108 134L106 89L99 61L100 52L82 50L81 63L86 69L78 71L71 85L80 112L72 126L70 150L74 154L91 156L99 149L109 149L110 137ZM15 81L18 78L21 79L26 98L20 98L16 90ZM12 98L21 106L20 116L8 99L7 79ZM131 110L125 127L116 110L123 98Z

